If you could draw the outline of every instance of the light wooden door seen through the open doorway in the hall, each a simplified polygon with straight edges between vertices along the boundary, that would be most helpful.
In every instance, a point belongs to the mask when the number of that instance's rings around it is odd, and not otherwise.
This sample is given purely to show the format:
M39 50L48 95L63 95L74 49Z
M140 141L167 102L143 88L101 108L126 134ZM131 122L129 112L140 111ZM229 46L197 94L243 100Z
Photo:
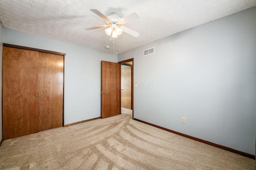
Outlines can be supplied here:
M132 109L132 67L121 68L121 107Z

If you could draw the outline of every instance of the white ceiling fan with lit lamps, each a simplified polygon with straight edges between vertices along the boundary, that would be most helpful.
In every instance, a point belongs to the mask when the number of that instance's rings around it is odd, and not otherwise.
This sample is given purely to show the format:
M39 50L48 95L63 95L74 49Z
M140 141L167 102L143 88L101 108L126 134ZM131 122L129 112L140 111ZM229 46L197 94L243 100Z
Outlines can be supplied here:
M122 24L124 23L138 20L139 16L136 13L130 14L124 18L120 18L115 12L112 12L110 16L106 17L104 16L104 14L102 14L96 9L91 9L91 11L94 12L96 15L100 16L101 18L103 18L106 21L107 25L99 25L96 27L85 28L85 30L87 31L92 29L108 27L107 29L105 29L105 33L107 35L111 35L112 38L117 38L118 35L121 35L123 31L134 37L138 37L140 35L140 33L122 26Z

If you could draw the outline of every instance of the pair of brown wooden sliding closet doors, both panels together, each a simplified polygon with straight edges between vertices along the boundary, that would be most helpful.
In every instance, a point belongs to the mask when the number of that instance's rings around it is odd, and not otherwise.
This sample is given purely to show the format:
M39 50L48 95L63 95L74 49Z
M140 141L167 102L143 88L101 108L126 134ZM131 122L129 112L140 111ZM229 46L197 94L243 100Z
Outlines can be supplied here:
M3 139L62 126L64 56L3 47Z

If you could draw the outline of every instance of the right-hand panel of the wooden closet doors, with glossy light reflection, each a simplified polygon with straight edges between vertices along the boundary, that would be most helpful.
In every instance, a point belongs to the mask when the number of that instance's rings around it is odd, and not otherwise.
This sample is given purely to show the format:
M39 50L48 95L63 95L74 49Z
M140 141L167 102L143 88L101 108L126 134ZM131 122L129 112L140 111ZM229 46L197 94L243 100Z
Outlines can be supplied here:
M39 52L39 131L62 126L64 56Z

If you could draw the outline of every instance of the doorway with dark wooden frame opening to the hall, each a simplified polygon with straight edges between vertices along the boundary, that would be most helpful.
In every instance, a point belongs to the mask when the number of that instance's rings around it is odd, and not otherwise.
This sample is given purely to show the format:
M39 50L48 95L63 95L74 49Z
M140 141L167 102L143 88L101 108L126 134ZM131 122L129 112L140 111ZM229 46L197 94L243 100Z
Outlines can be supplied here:
M121 73L121 113L132 112L132 119L134 117L134 102L133 102L133 58L118 62L120 64Z

